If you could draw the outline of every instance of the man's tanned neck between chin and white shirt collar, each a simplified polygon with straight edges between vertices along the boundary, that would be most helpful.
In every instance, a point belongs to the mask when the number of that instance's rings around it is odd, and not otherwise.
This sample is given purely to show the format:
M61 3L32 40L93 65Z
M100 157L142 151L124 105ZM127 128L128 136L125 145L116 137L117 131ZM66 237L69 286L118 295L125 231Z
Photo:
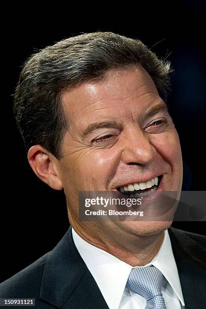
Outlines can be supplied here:
M111 235L106 237L100 227L98 229L95 229L94 226L88 228L87 225L87 229L85 229L74 222L71 222L71 225L81 238L133 267L144 266L151 262L157 254L164 237L163 231L158 234L142 236L122 230L120 233L117 231L112 232Z

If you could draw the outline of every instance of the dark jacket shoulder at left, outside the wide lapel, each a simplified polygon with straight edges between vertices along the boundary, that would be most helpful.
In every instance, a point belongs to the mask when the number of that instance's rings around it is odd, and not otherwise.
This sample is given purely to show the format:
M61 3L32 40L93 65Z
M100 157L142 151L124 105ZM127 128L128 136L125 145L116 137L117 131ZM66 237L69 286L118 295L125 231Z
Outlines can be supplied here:
M2 282L0 284L0 298L31 298L39 294L48 254L49 252Z

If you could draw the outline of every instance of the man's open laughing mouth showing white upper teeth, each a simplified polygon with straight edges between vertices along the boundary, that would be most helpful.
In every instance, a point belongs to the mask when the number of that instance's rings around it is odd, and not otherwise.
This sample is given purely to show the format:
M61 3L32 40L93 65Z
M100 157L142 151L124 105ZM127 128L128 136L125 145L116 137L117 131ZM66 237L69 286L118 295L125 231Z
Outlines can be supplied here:
M116 188L121 194L130 197L141 197L152 194L158 189L162 175L152 178L147 182L130 183L123 187Z

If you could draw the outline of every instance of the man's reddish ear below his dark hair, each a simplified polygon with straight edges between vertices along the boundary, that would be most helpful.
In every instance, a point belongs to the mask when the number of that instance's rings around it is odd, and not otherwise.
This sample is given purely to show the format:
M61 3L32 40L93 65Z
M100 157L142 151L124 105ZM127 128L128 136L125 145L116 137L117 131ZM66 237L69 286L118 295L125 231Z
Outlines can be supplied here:
M57 168L57 159L40 145L32 146L27 155L36 176L55 190L62 190L62 181Z

